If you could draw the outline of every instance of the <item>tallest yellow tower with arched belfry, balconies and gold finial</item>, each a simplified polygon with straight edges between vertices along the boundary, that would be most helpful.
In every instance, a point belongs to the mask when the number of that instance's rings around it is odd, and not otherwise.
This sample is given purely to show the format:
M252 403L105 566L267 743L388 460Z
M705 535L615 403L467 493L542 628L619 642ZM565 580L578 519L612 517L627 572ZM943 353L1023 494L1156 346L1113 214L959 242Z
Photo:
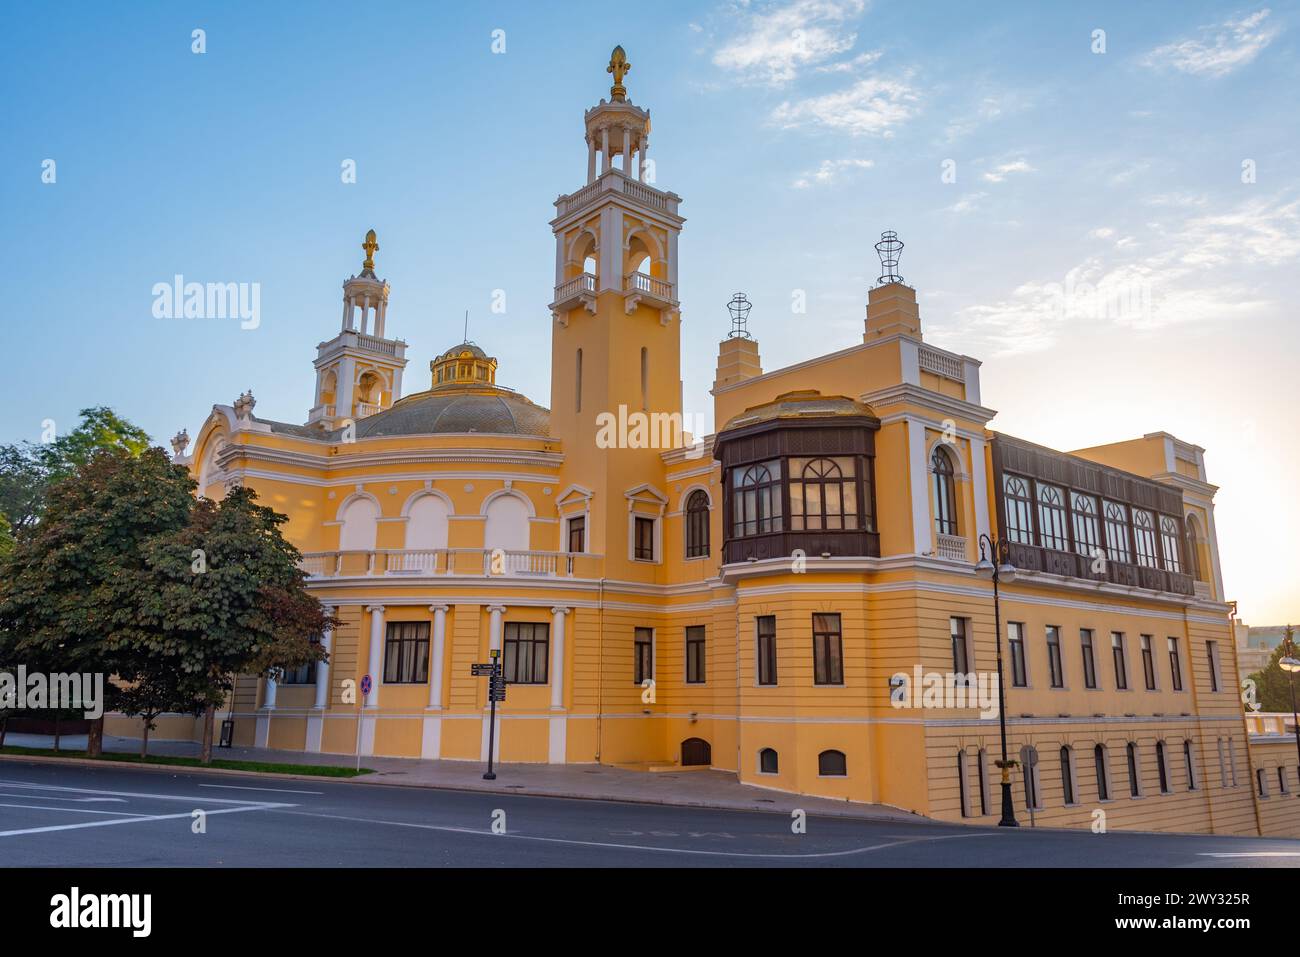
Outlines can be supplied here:
M662 488L660 455L671 446L662 433L647 437L621 423L641 413L675 420L680 430L677 235L685 220L681 198L647 182L650 113L628 100L630 69L615 47L610 100L584 117L586 183L555 200L551 433L563 439L567 480L589 507L586 550L644 562L630 542L632 514L659 493L629 490ZM620 423L612 447L601 429L607 416Z

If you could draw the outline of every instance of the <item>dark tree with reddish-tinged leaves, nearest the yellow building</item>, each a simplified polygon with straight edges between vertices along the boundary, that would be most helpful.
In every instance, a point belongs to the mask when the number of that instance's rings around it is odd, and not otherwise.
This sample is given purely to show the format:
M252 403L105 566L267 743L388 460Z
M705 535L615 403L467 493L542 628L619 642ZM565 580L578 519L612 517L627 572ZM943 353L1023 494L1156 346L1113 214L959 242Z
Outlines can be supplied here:
M199 501L181 534L153 540L147 553L155 571L140 596L148 648L199 680L204 763L213 713L235 676L322 661L312 638L334 624L307 592L302 554L281 534L287 518L256 498L237 488L220 503Z

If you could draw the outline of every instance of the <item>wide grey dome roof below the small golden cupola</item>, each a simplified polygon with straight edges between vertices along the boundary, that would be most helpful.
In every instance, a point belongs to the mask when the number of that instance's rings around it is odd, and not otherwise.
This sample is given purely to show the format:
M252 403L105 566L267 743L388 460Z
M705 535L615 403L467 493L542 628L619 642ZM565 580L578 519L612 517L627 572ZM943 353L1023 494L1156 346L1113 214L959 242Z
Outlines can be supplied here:
M358 438L478 432L547 436L550 410L499 386L443 385L399 399L393 408L359 419Z

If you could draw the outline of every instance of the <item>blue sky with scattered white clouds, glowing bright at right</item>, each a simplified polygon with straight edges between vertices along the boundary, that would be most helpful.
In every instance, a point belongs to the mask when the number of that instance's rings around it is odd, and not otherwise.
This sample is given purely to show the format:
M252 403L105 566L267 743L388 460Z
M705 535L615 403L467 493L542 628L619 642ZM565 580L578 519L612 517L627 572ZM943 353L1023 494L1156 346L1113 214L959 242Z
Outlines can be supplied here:
M738 289L767 368L861 341L871 247L896 229L927 339L985 360L994 428L1058 449L1158 429L1205 446L1230 596L1248 622L1296 618L1297 35L1296 4L1271 1L12 16L0 441L88 404L162 441L248 387L259 415L302 421L370 226L407 390L468 308L500 381L545 404L546 224L582 185L582 111L621 43L656 185L688 217L688 412L708 411ZM260 283L260 328L155 319L153 283L176 273Z

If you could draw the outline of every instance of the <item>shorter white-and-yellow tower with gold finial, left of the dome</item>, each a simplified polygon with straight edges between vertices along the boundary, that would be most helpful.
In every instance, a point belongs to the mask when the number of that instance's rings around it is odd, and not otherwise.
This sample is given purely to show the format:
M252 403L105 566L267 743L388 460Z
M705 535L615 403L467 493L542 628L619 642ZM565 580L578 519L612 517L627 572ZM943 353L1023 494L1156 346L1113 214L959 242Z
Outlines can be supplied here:
M389 283L374 274L380 243L373 229L361 248L360 274L343 283L342 329L316 347L316 402L307 424L322 429L382 412L402 398L406 343L384 337Z

